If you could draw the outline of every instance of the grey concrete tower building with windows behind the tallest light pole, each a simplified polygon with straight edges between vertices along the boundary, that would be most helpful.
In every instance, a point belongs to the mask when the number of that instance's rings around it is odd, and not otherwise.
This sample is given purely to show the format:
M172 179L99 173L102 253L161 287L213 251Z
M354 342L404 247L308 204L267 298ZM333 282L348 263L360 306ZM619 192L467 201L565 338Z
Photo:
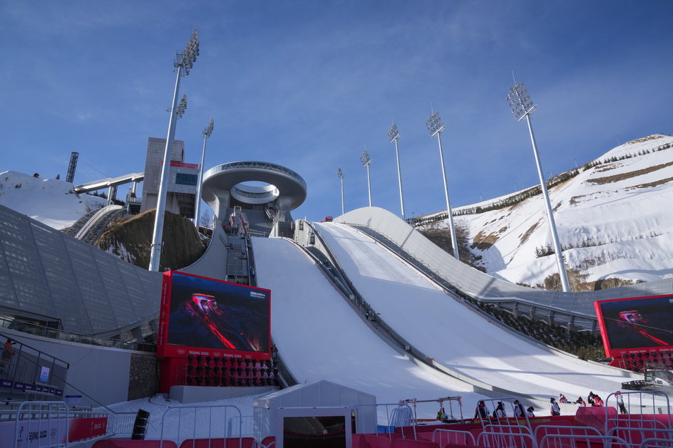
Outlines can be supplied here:
M143 204L140 206L141 213L157 207L165 147L165 138L148 138L145 180L143 182ZM185 163L185 142L183 140L173 140L166 192L167 212L180 214L180 216L190 219L194 217L198 173L199 165Z

